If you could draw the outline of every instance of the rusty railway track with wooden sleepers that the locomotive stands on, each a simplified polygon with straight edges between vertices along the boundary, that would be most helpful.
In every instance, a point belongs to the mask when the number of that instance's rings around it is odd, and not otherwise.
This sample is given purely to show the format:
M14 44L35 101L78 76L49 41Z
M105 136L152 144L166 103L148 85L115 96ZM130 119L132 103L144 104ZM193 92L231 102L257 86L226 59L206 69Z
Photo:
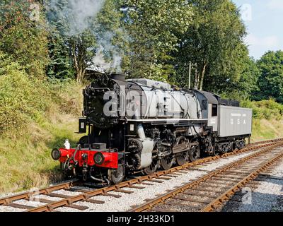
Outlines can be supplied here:
M103 204L104 201L96 200L95 196L112 196L119 198L119 193L131 194L132 191L124 190L124 188L133 189L144 189L144 186L150 185L150 182L163 183L164 181L171 179L172 177L178 177L178 174L182 173L184 170L190 169L190 167L195 167L197 165L205 164L206 162L212 162L221 158L229 157L231 155L237 155L239 153L245 153L250 150L258 150L260 148L274 148L275 145L282 145L282 138L260 141L257 143L252 143L242 150L234 150L231 153L226 153L224 155L205 157L203 159L197 160L196 162L187 162L183 166L174 167L166 171L156 172L155 174L149 176L135 177L129 179L125 182L117 184L115 186L106 186L100 189L78 189L76 186L80 185L78 181L73 180L71 182L65 182L62 184L57 184L50 186L45 189L40 189L37 191L28 191L23 194L17 194L14 196L8 196L0 198L0 206L9 206L11 208L20 208L28 212L43 212L43 211L54 211L59 207L69 207L77 210L86 210L88 207L76 205L77 201L83 201L88 203ZM77 191L80 194L71 196L66 194L57 194L56 191L59 190L66 191ZM55 191L55 192L54 192ZM110 191L115 191L117 194L112 194ZM38 198L39 195L45 195L53 198L59 198L58 201L52 201L46 198ZM93 199L94 198L94 199ZM37 201L40 202L40 206L28 206L25 204L19 204L15 201L25 200L25 201ZM149 205L150 206L150 205Z

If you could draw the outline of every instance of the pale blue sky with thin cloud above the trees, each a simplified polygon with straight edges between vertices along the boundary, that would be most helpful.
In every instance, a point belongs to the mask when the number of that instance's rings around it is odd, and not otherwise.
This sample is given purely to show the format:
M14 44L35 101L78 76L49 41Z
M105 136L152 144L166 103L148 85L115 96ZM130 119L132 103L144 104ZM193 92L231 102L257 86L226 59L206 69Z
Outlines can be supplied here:
M250 56L260 59L268 50L283 50L283 0L232 0L241 7Z

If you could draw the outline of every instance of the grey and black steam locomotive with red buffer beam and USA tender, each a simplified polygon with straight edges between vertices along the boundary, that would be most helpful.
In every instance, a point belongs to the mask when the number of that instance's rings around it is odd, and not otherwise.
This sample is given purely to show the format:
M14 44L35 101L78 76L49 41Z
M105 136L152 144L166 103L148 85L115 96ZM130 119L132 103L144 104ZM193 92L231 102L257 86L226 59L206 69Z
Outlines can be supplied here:
M200 90L149 79L100 76L83 90L85 133L76 148L52 150L68 177L118 184L127 174L153 174L250 141L252 110Z

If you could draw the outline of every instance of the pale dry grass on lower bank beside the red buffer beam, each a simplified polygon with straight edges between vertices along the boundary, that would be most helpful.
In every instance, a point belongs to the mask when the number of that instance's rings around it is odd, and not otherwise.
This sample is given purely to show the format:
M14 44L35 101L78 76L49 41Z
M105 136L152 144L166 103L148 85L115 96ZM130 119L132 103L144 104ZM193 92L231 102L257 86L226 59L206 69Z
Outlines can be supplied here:
M5 136L0 143L0 192L21 191L41 187L61 179L59 163L52 160L52 148L62 146L69 138L71 144L79 140L77 120L66 119L59 124L37 125L20 138Z

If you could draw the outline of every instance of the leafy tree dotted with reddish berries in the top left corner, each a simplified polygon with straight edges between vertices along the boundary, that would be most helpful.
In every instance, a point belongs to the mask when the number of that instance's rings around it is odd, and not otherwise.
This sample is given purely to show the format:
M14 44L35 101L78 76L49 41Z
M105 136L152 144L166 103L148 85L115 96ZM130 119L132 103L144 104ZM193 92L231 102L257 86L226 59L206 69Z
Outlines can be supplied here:
M44 19L30 20L33 0L1 1L0 49L30 75L44 78L48 63Z

